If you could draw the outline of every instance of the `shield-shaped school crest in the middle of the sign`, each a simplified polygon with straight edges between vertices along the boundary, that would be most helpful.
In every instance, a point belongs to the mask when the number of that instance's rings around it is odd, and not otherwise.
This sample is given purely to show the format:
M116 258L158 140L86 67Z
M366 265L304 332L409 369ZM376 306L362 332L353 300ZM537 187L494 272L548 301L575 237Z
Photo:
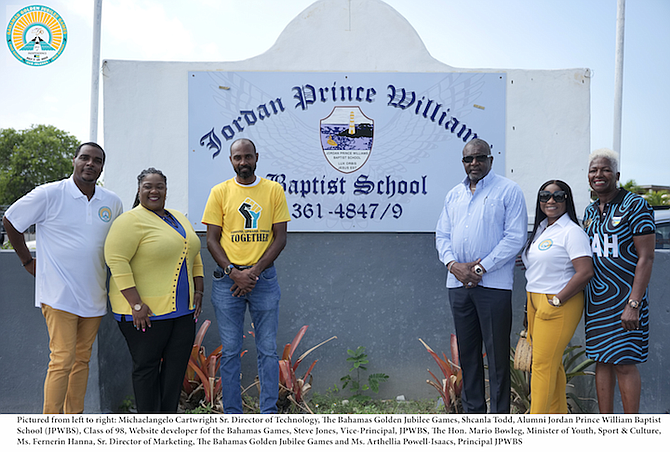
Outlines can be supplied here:
M321 148L326 160L341 173L359 170L372 152L375 122L360 107L335 107L321 120Z

